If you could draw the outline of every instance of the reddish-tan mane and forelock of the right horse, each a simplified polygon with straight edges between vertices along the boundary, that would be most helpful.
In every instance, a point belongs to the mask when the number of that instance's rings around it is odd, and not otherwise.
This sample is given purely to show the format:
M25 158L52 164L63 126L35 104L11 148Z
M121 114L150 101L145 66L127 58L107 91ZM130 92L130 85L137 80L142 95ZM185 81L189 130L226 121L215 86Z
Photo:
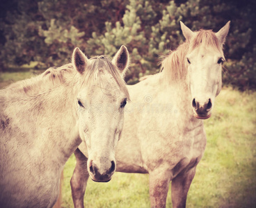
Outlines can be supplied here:
M200 30L195 32L195 37L193 37L192 40L179 45L175 51L170 51L161 61L161 71L166 73L166 78L172 81L186 80L188 67L186 54L200 46L218 50L223 53L222 45L213 31Z

